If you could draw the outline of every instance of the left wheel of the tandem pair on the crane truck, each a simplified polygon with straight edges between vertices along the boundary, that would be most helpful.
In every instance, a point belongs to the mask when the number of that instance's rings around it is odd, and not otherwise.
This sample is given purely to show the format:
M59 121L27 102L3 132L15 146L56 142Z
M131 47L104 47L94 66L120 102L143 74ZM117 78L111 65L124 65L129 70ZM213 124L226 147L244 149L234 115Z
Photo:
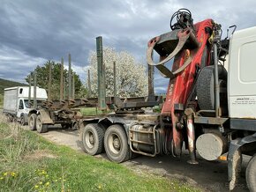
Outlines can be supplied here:
M82 149L89 155L97 155L104 151L104 130L96 123L89 123L81 129Z

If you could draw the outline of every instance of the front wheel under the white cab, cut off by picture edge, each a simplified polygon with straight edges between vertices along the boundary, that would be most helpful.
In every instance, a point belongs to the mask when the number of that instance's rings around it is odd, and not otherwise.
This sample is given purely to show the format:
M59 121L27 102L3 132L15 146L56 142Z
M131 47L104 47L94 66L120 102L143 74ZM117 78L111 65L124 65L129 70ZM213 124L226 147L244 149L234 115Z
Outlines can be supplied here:
M246 183L251 192L256 192L256 154L246 167Z

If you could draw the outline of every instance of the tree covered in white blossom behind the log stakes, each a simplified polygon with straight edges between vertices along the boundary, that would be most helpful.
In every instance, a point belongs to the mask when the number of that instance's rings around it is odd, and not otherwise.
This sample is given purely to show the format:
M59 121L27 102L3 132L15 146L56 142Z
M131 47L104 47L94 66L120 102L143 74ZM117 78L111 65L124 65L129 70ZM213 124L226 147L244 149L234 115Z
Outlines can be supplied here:
M128 52L116 52L114 48L103 48L103 62L106 72L106 94L114 95L114 70L117 70L117 96L139 97L147 95L146 67L137 63L134 56ZM91 72L92 96L97 96L97 55L93 51L89 55L89 70Z

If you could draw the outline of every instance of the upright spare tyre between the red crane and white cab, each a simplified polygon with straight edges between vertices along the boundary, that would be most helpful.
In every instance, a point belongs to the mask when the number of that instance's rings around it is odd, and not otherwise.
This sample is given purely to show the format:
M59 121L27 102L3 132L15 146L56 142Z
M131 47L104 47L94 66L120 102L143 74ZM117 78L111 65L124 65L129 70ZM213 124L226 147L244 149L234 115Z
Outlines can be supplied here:
M226 86L227 71L222 65L218 65L219 83ZM225 88L225 87L224 87ZM207 66L200 70L196 86L198 103L201 110L215 110L215 66ZM220 96L221 106L224 107L226 99Z

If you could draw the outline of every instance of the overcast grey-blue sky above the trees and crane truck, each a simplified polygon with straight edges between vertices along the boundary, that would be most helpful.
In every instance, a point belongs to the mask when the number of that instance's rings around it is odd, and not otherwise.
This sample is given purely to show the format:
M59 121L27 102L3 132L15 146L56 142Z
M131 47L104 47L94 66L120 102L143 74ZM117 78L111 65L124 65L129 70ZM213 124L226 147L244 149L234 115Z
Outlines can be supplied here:
M192 11L194 23L213 18L237 29L256 26L256 1L190 0L0 0L0 78L25 82L28 71L47 60L72 54L72 67L85 82L84 68L95 38L103 46L126 50L146 63L147 41L169 32L169 18L180 8ZM167 79L156 76L155 91Z

